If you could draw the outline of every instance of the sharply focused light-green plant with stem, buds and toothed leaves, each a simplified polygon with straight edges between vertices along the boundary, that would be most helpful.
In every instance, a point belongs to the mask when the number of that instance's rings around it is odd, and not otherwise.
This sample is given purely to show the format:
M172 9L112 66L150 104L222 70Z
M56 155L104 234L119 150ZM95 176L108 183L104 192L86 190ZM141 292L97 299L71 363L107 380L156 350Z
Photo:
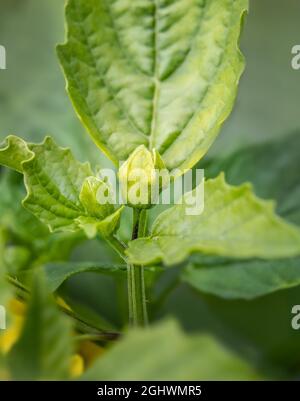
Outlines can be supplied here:
M125 206L89 163L50 137L32 144L9 136L1 145L0 163L24 175L27 210L52 232L101 236L121 256L132 325L147 324L148 266L184 262L185 281L198 288L201 269L190 265L191 254L239 261L300 254L299 228L249 184L230 186L223 174L205 182L203 213L186 213L194 189L148 230L148 209L169 175L206 154L231 112L244 68L238 41L247 9L247 0L68 1L58 57L82 124L117 166L123 162L122 198L133 210L127 243L119 235Z

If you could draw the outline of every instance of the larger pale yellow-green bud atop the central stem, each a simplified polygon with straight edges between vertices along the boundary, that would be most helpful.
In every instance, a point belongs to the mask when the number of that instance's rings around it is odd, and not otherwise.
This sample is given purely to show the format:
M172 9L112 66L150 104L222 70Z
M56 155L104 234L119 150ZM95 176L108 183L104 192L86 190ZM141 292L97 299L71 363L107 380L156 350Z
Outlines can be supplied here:
M119 170L123 201L134 208L150 208L169 182L169 173L159 153L139 146Z

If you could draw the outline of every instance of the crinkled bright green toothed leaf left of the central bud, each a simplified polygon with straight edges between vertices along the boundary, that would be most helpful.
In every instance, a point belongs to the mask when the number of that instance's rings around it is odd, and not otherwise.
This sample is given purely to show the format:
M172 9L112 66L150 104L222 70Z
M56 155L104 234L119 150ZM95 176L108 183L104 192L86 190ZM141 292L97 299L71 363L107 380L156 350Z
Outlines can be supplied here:
M93 237L97 232L110 235L118 227L123 208L115 211L113 205L98 203L95 210L95 188L88 184L97 181L99 188L101 181L93 177L88 163L75 160L69 149L58 147L50 137L35 145L10 136L0 148L0 164L23 172L27 189L23 205L50 231L83 229Z

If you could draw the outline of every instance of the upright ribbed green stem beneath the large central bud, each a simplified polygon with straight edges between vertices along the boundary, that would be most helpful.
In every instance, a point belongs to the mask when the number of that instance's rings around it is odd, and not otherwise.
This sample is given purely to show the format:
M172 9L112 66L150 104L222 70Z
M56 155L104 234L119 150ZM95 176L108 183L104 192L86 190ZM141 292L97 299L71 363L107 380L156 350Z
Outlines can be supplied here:
M146 210L133 209L132 240L145 235L147 225ZM131 326L147 326L148 316L143 266L128 264L128 302Z

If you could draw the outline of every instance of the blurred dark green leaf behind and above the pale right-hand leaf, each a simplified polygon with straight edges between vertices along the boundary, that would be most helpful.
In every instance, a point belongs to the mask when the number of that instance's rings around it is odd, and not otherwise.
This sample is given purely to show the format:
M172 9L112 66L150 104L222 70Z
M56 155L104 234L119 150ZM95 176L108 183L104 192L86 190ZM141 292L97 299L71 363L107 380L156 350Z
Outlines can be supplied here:
M250 181L258 196L275 199L277 212L300 224L300 135L248 146L226 158L213 158L201 164L206 177L221 171L232 185Z

